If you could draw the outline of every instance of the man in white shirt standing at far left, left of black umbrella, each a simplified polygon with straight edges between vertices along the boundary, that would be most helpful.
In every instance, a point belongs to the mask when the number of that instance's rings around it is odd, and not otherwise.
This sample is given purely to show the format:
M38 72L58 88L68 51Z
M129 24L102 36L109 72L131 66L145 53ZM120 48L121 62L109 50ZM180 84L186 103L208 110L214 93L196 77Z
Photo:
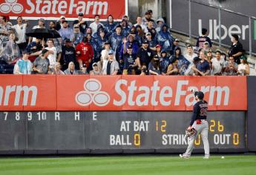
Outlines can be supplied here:
M23 23L22 16L17 17L17 24L13 25L12 28L16 31L16 37L18 41L16 43L19 46L19 50L22 52L26 47L26 30L27 30L27 20Z

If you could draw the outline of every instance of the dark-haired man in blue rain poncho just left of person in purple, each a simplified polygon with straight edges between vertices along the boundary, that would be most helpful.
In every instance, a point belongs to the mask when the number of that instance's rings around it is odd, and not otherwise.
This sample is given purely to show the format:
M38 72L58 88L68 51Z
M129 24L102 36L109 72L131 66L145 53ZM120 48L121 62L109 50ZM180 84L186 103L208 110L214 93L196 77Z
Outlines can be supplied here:
M109 37L108 41L111 43L111 47L114 50L116 59L119 59L119 51L122 47L122 26L116 26L116 31Z

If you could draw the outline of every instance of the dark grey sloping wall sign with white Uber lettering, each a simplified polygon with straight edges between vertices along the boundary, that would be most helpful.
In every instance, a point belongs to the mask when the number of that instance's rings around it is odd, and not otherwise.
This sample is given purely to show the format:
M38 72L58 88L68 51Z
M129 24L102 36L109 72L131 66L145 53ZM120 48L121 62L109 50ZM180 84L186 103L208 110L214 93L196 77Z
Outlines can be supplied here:
M171 2L171 18L172 28L184 33L189 33L188 22L188 2L172 0ZM184 14L181 16L179 11ZM184 21L185 20L185 21ZM201 36L202 27L208 29L209 38L214 42L231 45L232 34L237 34L243 48L249 51L249 17L238 15L226 10L219 11L216 7L209 7L204 4L198 4L191 1L191 34L194 36ZM255 40L255 21L252 19L252 52L256 53ZM219 36L219 30L221 36Z

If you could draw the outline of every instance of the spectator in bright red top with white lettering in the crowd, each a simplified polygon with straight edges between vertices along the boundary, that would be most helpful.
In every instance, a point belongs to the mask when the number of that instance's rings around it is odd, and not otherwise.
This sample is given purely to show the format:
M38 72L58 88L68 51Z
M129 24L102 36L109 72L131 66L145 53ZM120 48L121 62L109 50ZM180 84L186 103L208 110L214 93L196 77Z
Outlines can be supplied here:
M93 59L93 47L88 42L88 39L84 37L82 42L76 45L76 59L79 62L79 66L86 65L88 68Z

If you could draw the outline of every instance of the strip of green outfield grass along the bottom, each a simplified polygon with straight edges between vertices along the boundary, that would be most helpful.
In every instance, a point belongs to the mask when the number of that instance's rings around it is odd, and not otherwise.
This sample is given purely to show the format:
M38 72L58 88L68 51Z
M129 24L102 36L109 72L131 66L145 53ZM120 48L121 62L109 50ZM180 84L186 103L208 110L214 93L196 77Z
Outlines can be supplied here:
M48 174L256 174L256 156L85 156L61 158L1 158L1 175Z

